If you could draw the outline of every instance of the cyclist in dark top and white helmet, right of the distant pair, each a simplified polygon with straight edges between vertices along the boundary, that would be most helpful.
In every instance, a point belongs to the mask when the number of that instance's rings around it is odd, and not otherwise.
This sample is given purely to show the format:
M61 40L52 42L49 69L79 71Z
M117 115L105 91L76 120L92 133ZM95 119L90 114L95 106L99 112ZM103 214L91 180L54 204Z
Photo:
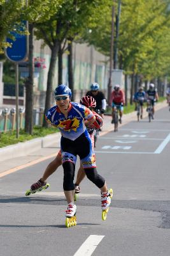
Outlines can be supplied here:
M155 88L155 84L151 83L149 86L149 89L146 91L146 100L147 100L147 108L149 104L152 104L153 107L153 115L155 114L155 101L159 100L159 95L157 93L157 89ZM147 111L148 109L146 109ZM154 116L152 115L152 119L154 119Z

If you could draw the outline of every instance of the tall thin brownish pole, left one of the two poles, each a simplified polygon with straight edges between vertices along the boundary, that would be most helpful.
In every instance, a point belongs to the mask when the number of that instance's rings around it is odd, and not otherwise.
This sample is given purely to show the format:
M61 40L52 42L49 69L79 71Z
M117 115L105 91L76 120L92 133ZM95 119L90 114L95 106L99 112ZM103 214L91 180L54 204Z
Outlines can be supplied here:
M111 12L111 44L110 44L110 73L108 81L108 104L111 105L111 84L112 84L112 69L113 69L113 42L114 42L114 17L115 17L115 0L113 0L112 12Z

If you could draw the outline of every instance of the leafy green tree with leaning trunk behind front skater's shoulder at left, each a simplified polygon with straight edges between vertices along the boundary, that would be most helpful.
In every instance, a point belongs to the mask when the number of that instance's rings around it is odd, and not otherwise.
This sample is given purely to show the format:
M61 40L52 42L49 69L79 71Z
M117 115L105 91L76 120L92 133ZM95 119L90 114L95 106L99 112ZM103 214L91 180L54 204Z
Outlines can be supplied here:
M53 77L55 74L59 45L66 39L70 41L71 38L73 41L76 36L81 34L83 29L88 29L89 24L92 24L94 19L96 19L94 14L97 15L96 11L99 10L99 6L104 6L106 3L108 3L108 1L66 0L60 4L60 8L50 20L36 26L37 38L43 38L45 44L50 47L52 52L48 71L45 112L51 106ZM69 84L69 86L71 90L74 91L73 84ZM44 120L43 126L46 125Z

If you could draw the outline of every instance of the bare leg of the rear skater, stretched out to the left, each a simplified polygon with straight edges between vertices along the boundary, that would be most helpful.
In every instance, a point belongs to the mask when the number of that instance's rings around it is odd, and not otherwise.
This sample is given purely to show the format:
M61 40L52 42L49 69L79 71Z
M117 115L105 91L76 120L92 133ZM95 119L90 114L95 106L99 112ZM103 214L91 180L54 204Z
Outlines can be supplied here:
M58 154L57 157L55 157L55 159L53 159L53 161L46 167L46 170L43 173L43 177L41 177L41 180L45 182L45 180L48 179L48 177L52 175L52 173L55 172L61 164L61 155Z

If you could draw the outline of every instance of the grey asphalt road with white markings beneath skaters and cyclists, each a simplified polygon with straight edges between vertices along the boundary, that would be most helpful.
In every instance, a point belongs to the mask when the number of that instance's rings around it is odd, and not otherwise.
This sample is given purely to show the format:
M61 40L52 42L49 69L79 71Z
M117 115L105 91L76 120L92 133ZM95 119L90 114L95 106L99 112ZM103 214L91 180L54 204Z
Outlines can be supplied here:
M25 197L51 159L1 177L0 255L169 256L169 141L168 108L151 123L132 121L99 137L97 170L114 191L106 221L99 190L85 179L77 225L65 227L62 168L48 179L50 188Z

